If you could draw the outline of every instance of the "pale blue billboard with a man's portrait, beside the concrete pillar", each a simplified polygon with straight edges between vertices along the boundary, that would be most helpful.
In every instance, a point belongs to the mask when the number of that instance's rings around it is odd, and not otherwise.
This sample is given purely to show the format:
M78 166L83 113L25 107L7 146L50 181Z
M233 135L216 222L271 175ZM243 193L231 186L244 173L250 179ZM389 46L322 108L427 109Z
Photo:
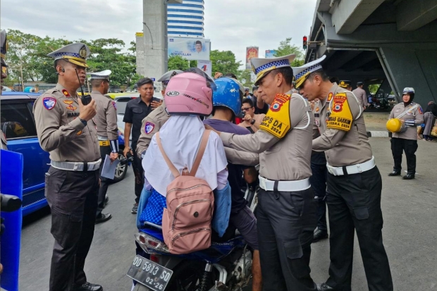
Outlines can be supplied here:
M168 37L168 57L182 56L189 61L209 61L209 39Z

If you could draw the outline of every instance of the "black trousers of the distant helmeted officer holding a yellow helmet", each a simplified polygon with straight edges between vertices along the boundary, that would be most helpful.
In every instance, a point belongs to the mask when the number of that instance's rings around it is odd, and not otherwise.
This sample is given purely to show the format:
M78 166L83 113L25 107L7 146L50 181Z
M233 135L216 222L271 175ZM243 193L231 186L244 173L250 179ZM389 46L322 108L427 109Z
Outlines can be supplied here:
M405 140L403 138L392 137L391 140L391 153L393 154L393 160L395 166L393 171L399 171L402 169L402 151L405 151L407 157L407 173L416 173L416 151L417 140Z

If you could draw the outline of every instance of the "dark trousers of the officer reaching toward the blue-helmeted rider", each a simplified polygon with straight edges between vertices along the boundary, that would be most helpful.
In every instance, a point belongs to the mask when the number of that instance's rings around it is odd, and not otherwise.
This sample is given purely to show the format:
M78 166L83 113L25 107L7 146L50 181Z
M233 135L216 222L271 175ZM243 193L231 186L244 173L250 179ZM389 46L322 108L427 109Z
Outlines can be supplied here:
M258 199L263 290L316 290L309 268L317 223L314 192L311 188L300 192L261 190Z

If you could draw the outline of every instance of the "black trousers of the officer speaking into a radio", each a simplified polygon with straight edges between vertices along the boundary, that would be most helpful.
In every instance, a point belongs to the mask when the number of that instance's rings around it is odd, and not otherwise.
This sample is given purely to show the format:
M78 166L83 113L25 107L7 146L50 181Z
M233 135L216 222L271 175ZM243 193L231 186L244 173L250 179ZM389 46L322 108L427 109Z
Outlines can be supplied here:
M45 196L51 207L55 243L50 266L50 291L68 291L87 282L83 271L96 220L99 171L46 173Z

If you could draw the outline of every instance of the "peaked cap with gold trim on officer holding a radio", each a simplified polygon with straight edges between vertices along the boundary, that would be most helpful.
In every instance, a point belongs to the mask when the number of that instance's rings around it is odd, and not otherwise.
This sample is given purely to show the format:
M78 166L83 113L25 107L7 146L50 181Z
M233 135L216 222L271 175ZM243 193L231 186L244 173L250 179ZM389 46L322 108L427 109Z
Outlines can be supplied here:
M86 44L76 42L61 47L61 49L56 49L56 51L52 51L47 56L51 56L55 61L64 60L77 66L88 68L86 59L90 56L90 53L90 48Z

